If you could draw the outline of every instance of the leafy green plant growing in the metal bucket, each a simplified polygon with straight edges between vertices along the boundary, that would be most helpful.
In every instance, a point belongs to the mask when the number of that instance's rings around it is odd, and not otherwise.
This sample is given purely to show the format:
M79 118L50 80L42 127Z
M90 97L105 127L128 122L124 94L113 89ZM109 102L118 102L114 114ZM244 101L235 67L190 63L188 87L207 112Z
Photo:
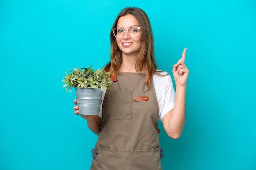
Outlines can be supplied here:
M90 68L81 68L82 70L78 68L74 68L74 72L70 71L70 74L67 74L65 78L62 80L65 82L65 85L63 87L66 87L71 92L72 87L92 87L93 89L97 89L101 87L101 90L110 88L110 72L106 72L103 69L93 71L92 65Z

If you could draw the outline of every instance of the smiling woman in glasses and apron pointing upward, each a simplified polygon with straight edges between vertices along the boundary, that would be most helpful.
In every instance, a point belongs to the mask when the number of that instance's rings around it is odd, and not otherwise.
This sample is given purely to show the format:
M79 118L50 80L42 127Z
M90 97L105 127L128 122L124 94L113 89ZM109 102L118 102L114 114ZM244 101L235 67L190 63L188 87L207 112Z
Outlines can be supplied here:
M175 93L171 76L157 70L152 29L143 10L122 10L110 41L111 61L104 69L111 72L111 90L103 92L99 116L81 115L99 135L91 169L161 170L158 120L174 139L185 122L186 48L173 65ZM78 106L73 109L79 114Z

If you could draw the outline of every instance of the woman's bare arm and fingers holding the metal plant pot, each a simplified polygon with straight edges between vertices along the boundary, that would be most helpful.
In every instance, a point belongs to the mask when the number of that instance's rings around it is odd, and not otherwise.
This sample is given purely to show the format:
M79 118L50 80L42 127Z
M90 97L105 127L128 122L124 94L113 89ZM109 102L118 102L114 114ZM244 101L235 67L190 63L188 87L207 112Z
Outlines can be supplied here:
M76 104L76 100L74 100L74 104ZM79 114L78 106L74 106L74 112L76 115ZM82 118L87 120L87 125L89 129L95 133L96 135L99 135L100 127L101 127L101 118L97 115L80 115Z

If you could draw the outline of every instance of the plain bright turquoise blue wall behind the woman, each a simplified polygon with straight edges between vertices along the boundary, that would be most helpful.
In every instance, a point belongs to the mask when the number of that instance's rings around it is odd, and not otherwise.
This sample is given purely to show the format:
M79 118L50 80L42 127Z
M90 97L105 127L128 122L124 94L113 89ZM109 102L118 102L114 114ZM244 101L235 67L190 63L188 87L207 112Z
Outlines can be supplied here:
M187 47L186 124L159 123L164 170L256 169L256 1L1 0L0 169L87 170L97 136L74 115L65 71L102 68L127 6L148 14L159 69Z

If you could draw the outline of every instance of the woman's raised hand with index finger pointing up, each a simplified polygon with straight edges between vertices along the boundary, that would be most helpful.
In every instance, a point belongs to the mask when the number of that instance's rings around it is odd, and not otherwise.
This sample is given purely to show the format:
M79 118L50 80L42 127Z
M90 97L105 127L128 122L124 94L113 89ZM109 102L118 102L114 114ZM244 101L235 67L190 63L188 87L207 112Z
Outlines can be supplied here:
M186 81L189 76L189 69L185 65L185 57L186 57L186 48L184 48L182 52L181 59L177 62L177 64L173 65L173 78L175 80L176 86L186 86Z

